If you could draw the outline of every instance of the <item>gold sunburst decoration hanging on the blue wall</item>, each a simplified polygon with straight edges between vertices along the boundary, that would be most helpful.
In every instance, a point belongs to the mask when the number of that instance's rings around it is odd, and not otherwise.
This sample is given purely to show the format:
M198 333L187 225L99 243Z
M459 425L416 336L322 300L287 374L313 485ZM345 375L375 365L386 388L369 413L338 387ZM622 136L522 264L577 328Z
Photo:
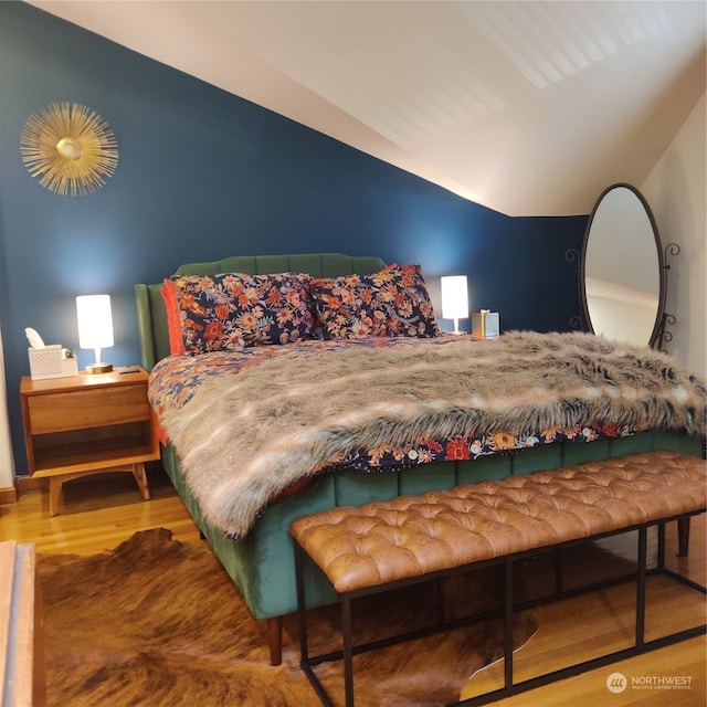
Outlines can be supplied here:
M113 130L97 113L77 103L53 103L30 116L20 152L42 187L72 197L105 187L118 166Z

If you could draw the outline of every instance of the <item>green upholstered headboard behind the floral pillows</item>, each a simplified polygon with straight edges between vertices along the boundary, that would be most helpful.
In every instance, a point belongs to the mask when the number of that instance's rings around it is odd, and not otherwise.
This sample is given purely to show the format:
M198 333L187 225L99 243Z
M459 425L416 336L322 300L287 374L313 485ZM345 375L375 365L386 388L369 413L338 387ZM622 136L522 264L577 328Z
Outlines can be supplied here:
M341 253L297 253L293 255L235 255L211 263L181 265L175 275L218 275L219 273L309 273L314 277L338 275L370 275L386 263L376 256L344 255ZM135 285L137 324L140 335L143 366L151 371L155 363L169 356L167 315L160 294L162 283Z

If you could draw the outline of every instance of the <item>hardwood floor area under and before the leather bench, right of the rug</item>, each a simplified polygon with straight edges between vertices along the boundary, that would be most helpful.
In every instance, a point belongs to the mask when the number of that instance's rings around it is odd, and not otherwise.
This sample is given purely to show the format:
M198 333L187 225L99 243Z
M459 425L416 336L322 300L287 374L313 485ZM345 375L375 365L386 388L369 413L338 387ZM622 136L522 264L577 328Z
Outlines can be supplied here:
M693 518L690 552L678 558L676 524L666 531L666 564L689 579L707 584L705 514ZM611 562L634 559L633 539L611 538L603 544L606 556L595 555L590 572L603 571ZM592 550L591 552L593 552ZM590 555L591 555L590 552ZM655 553L648 556L654 560ZM578 559L577 567L581 568ZM581 569L577 577L580 577ZM618 574L620 576L620 574ZM602 576L603 578L603 576ZM601 579L601 578L598 578ZM538 631L514 657L515 680L521 682L589 661L633 644L635 626L635 584L595 591L537 609ZM648 579L646 591L646 641L706 622L705 595L664 577ZM629 705L654 707L704 707L707 704L707 640L705 636L620 661L606 667L582 673L551 685L494 703L499 707L593 707ZM463 698L503 686L504 664L499 662L479 672L466 683ZM611 675L621 673L626 687L612 693L606 686ZM680 683L678 689L673 685Z

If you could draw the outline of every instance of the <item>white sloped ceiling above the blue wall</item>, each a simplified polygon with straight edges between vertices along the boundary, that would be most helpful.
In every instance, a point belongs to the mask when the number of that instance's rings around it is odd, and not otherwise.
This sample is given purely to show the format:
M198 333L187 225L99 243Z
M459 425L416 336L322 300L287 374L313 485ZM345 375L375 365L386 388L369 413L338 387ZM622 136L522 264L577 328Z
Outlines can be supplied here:
M30 3L510 215L641 184L705 93L703 0Z

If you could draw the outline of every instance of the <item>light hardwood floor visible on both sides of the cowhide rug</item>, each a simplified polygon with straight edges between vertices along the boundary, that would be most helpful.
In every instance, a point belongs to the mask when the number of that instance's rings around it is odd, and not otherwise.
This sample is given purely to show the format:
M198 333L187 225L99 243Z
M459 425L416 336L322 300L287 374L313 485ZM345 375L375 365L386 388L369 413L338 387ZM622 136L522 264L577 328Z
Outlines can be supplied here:
M0 506L0 540L34 542L41 553L93 555L116 547L137 530L163 527L181 541L199 542L199 531L169 481L158 468L152 468L149 482L152 498L144 502L128 474L75 479L64 486L60 515L53 518L49 515L48 494L28 492L17 504ZM671 530L668 528L668 563L705 584L705 516L693 519L688 558L675 557L676 544ZM705 621L705 598L663 579L655 578L648 590L648 639L654 637L651 631ZM620 647L630 635L632 601L633 588L624 585L540 609L540 630L516 654L516 679L592 657L598 646L604 652L606 647ZM694 639L496 704L504 707L593 707L604 704L611 707L704 707L707 704L706 650L704 636ZM498 669L498 666L492 666L474 676L463 696L495 685ZM612 694L606 687L606 678L612 673L622 673L629 682L635 677L644 683L644 688L634 686ZM663 682L679 678L688 683L687 689L645 688L646 682L656 678Z

